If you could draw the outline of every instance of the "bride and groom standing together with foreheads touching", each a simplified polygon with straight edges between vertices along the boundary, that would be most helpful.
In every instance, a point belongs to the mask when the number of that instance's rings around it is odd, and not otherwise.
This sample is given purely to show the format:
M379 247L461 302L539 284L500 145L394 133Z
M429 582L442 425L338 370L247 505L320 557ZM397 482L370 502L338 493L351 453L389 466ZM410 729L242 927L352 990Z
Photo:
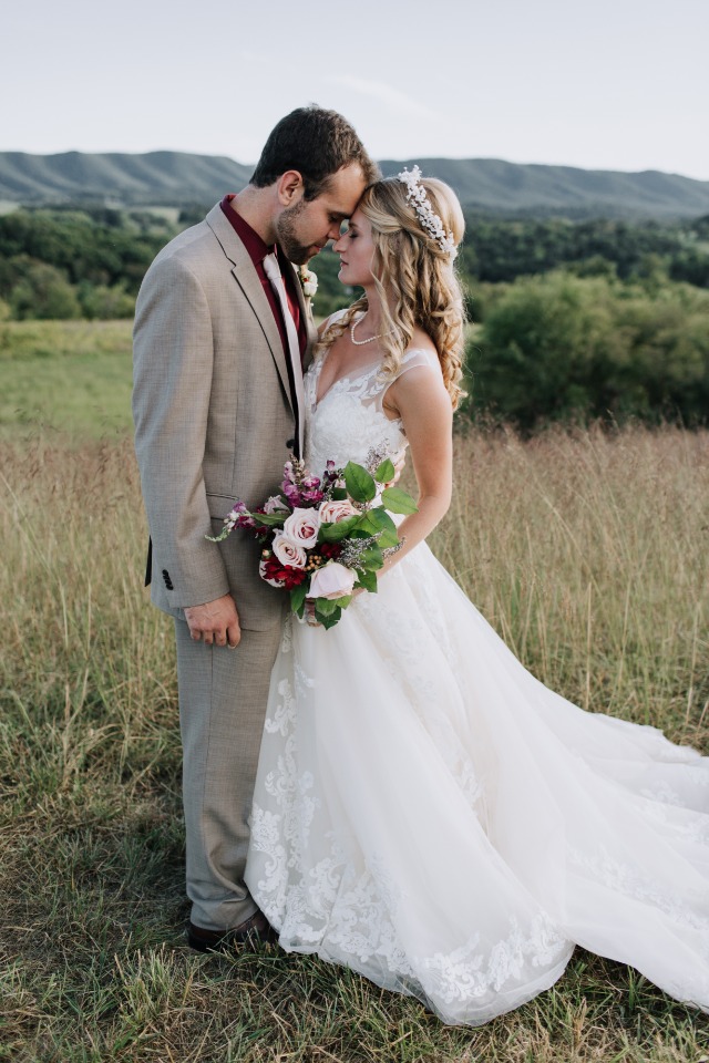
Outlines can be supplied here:
M307 107L145 277L136 451L175 618L188 940L278 939L470 1024L578 943L709 1010L709 758L544 688L424 543L451 493L462 235L448 186L378 179ZM318 340L290 264L329 239L364 296ZM299 447L315 475L408 447L419 487L378 594L328 631L285 616L245 533L206 538Z

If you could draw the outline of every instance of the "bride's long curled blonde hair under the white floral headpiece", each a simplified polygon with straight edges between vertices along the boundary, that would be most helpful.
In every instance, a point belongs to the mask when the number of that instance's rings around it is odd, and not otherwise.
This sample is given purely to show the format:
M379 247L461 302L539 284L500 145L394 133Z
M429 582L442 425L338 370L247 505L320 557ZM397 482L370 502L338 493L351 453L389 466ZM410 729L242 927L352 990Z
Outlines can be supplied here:
M455 244L463 238L465 223L458 197L442 180L429 177L421 185L431 206L453 234ZM397 177L369 185L358 204L371 223L371 270L381 300L381 373L393 378L411 345L414 328L422 329L438 351L443 381L453 409L464 394L459 386L464 353L463 295L453 267L454 256L442 250L438 240L422 228L419 216L407 199L407 186ZM323 332L318 349L329 347L349 328L354 316L367 310L367 296L349 307Z

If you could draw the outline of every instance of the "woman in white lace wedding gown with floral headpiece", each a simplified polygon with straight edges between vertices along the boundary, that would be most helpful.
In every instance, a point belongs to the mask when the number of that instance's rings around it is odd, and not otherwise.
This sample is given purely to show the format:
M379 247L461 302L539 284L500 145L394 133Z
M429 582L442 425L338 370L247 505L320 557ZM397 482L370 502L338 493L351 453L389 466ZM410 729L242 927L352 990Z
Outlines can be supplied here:
M307 465L408 446L419 510L378 594L328 631L286 623L246 883L284 949L446 1023L518 1007L575 945L709 1010L709 758L543 687L424 543L451 495L462 235L417 167L370 186L335 245L364 297L306 376Z

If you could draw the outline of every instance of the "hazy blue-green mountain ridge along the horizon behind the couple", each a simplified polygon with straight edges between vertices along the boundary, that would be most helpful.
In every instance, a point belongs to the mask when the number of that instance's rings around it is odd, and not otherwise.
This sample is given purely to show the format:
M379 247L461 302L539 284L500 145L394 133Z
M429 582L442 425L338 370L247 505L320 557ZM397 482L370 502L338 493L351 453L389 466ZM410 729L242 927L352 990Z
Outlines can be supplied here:
M384 159L386 175L418 162L455 188L463 206L504 215L675 219L709 214L709 182L645 171L521 165L496 158ZM0 200L110 206L210 205L247 183L250 166L220 155L29 155L0 152Z

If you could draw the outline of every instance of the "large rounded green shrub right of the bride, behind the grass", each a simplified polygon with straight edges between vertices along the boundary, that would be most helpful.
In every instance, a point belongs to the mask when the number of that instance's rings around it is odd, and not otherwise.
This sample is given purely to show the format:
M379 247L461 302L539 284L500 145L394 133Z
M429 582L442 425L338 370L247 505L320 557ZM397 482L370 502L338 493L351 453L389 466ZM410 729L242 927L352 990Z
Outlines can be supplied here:
M469 409L523 430L595 419L705 422L709 295L565 272L518 279L467 350Z

